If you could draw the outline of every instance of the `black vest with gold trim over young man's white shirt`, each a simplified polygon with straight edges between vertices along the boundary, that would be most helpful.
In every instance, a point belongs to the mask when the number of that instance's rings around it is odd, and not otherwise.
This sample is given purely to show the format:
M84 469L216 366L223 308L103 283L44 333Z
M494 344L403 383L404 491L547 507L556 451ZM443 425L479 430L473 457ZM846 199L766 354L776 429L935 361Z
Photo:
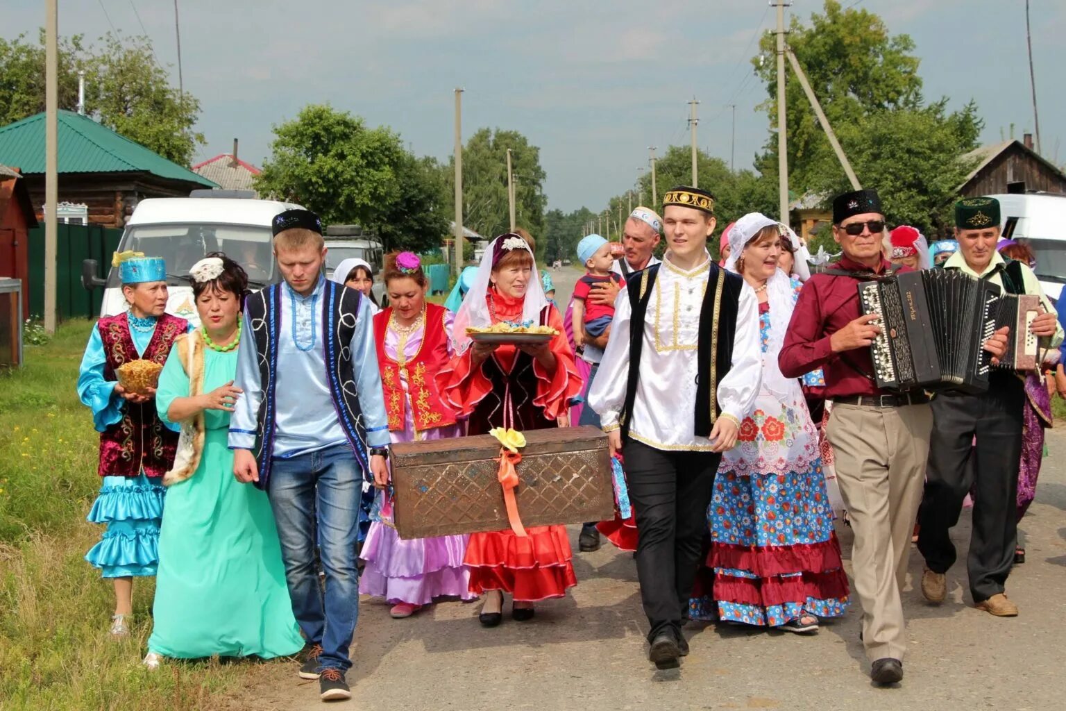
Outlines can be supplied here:
M651 300L660 264L652 264L630 276L626 281L632 308L629 326L629 377L626 402L621 409L621 437L629 439L629 415L636 400L641 378L641 354L644 352L644 321ZM707 291L699 310L698 370L696 374L696 407L693 413L695 434L709 437L721 414L717 401L718 383L732 367L733 336L737 333L737 310L743 277L710 264Z

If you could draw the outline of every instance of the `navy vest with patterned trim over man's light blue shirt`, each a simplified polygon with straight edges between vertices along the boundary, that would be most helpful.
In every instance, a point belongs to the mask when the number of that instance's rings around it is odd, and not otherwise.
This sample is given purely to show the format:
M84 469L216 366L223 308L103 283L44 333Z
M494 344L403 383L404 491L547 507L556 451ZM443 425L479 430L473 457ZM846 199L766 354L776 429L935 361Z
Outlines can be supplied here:
M246 318L252 327L254 346L259 362L259 382L263 400L256 418L256 443L253 453L259 465L256 486L266 488L270 465L274 452L274 434L277 424L275 410L277 387L277 344L281 330L282 284L266 287L251 294L245 302ZM322 348L326 363L326 383L333 399L341 430L352 446L362 470L368 466L367 432L362 423L355 367L350 344L355 334L362 294L326 280L322 289ZM252 345L252 344L249 344ZM244 348L244 346L242 346Z

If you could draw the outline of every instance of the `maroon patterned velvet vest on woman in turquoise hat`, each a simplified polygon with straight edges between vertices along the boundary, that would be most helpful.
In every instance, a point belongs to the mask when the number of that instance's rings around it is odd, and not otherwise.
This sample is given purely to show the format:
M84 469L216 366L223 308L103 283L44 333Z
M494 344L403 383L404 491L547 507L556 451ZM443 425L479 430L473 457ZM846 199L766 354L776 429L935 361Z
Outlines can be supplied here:
M174 340L185 333L189 322L164 313L156 322L156 332L143 356L139 356L130 335L126 313L104 317L96 327L103 342L107 363L103 379L117 381L115 370L125 362L144 358L163 365ZM156 401L143 404L127 402L123 419L100 433L100 476L162 476L174 466L178 433L172 432L156 414Z

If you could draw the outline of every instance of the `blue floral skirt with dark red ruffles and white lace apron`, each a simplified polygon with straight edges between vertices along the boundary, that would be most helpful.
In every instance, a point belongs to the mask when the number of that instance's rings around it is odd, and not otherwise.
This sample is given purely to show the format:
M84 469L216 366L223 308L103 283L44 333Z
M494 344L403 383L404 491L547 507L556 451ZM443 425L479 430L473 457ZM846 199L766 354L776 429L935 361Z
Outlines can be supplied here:
M690 617L776 627L844 613L847 577L818 452L803 401L787 407L760 393L715 478L709 569Z

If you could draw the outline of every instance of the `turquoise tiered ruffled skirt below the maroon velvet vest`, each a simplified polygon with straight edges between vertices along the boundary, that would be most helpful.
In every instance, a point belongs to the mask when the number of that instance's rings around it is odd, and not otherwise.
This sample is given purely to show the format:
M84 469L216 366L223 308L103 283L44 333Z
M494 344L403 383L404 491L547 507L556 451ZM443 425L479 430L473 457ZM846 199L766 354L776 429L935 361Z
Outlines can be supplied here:
M161 480L104 476L88 520L107 529L85 560L104 578L150 577L159 563L159 526L163 518Z

